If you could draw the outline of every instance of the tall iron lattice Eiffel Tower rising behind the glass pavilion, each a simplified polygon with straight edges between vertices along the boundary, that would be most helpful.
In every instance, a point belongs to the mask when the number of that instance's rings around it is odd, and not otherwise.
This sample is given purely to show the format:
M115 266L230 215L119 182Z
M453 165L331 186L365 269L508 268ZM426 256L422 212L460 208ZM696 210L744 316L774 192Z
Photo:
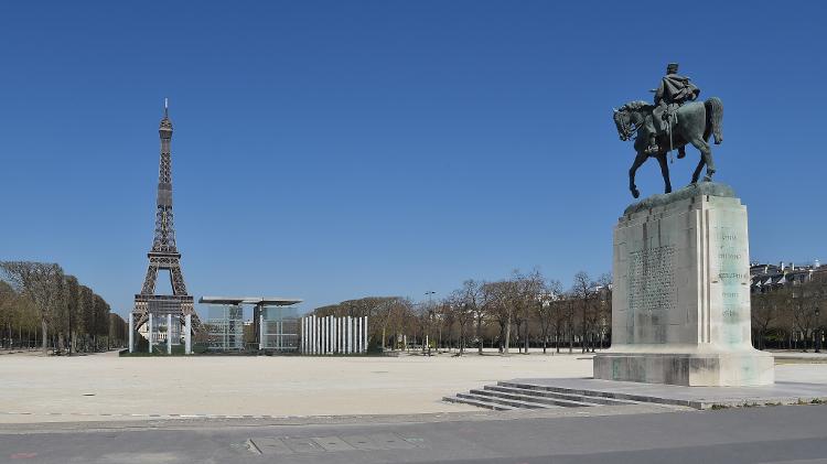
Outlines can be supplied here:
M161 136L161 161L158 169L158 196L155 207L155 237L152 249L147 253L149 268L143 279L141 292L135 295L135 328L149 321L150 313L154 321L162 321L171 314L179 327L184 326L184 319L192 314L193 326L200 326L198 316L193 309L193 298L186 293L184 276L181 272L181 253L175 246L175 228L172 215L172 121L169 116L169 105L164 99L163 119L158 128ZM155 281L158 271L170 272L172 283L171 295L157 295ZM162 317L161 317L162 316ZM173 327L170 327L173 328ZM178 331L174 331L178 332ZM174 334L174 332L172 332Z

